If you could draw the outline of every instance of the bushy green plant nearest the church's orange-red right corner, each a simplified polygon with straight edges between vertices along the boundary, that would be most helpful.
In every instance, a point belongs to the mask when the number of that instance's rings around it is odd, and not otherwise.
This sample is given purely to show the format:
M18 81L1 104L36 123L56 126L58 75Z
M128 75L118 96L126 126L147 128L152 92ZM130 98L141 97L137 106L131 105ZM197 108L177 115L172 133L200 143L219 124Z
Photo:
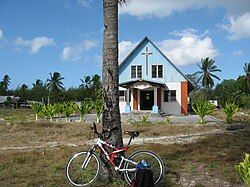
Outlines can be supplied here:
M194 103L192 109L197 115L199 115L201 124L205 123L204 118L206 115L210 115L214 112L214 106L208 101Z

